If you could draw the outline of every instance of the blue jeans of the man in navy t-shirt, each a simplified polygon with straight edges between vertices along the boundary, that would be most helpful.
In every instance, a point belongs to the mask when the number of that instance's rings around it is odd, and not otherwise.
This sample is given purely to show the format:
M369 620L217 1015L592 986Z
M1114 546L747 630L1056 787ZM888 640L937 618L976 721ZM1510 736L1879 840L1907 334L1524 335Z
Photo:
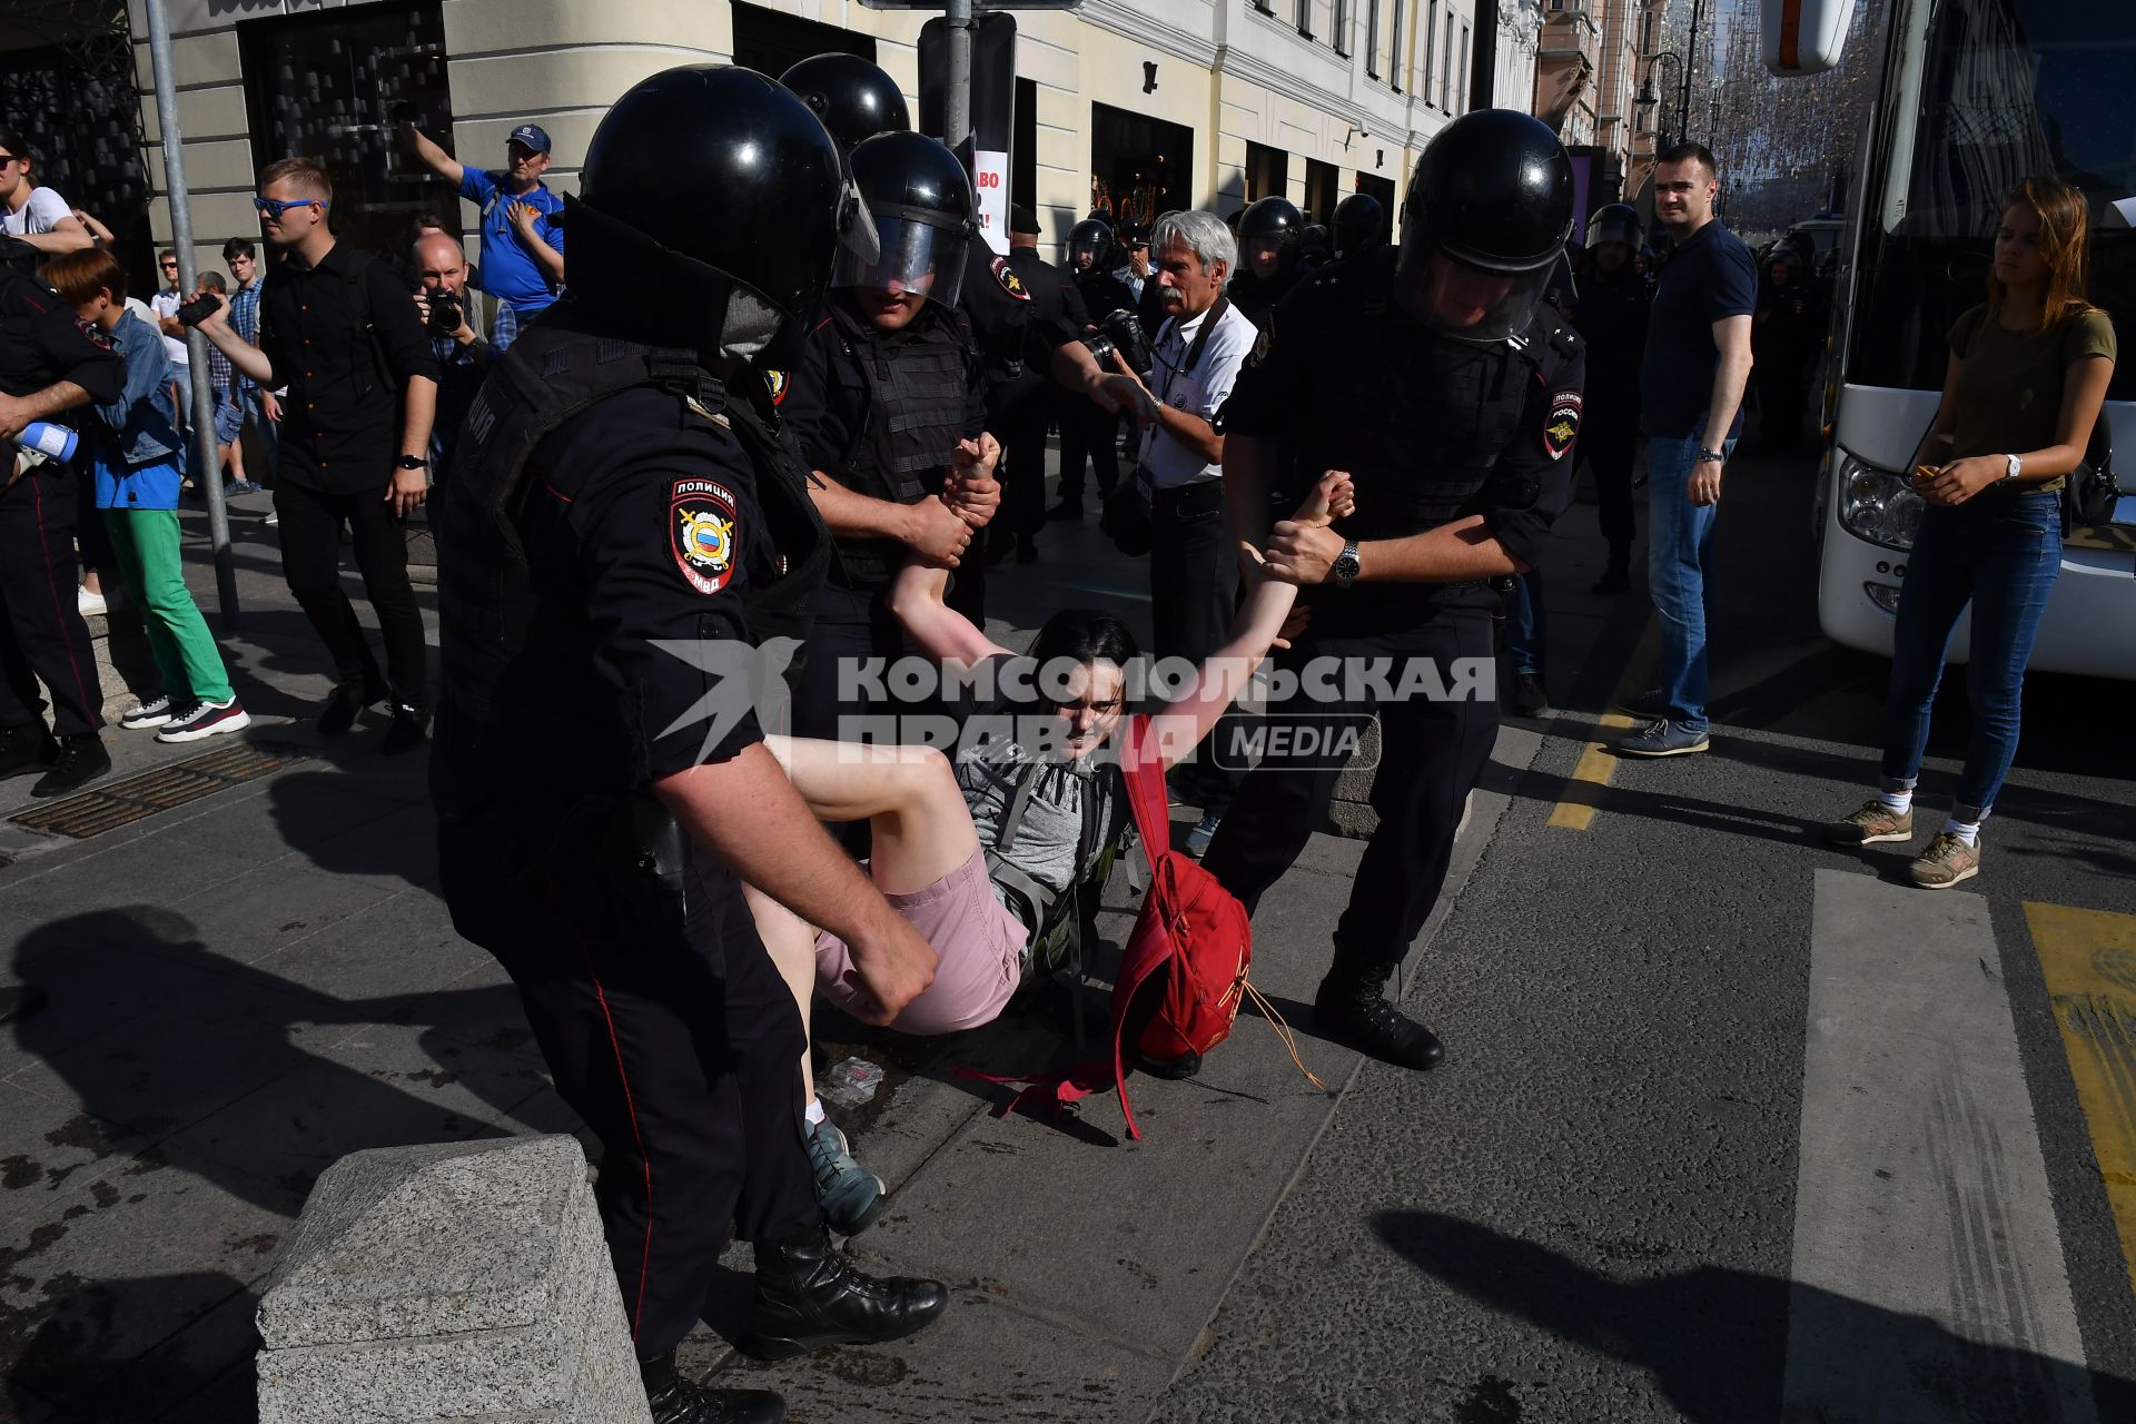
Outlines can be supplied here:
M1690 497L1707 418L1690 436L1647 438L1647 591L1662 623L1662 702L1668 719L1707 730L1707 576L1717 504ZM1734 440L1722 446L1734 455Z

